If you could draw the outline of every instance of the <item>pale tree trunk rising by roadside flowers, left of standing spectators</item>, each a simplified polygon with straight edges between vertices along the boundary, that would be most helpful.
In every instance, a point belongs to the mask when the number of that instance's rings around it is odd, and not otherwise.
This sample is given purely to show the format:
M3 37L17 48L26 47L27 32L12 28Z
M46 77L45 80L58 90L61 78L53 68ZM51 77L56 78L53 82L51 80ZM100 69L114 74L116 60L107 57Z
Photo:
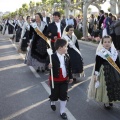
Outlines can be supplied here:
M90 3L86 3L83 6L83 37L87 37L88 36L88 29L87 29L87 10L89 7Z

